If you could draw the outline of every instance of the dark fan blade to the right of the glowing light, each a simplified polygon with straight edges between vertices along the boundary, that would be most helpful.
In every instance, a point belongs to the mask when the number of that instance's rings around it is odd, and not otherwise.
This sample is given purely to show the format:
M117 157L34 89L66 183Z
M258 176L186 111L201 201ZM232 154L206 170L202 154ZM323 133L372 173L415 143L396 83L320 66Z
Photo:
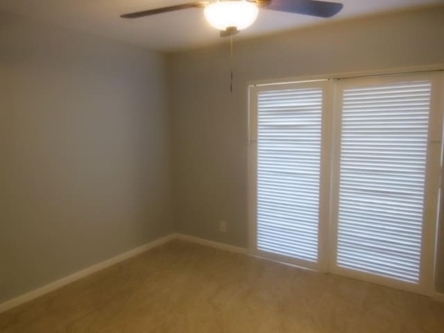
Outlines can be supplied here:
M262 2L265 1L262 0ZM260 3L261 0L258 0L258 4ZM343 4L315 0L271 0L264 8L280 12L294 12L295 14L332 17L343 8Z

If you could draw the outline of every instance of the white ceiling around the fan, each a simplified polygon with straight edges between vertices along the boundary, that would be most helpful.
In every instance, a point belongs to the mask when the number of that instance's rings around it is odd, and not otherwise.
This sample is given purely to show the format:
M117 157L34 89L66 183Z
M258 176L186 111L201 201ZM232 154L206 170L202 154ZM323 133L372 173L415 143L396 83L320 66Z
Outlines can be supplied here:
M337 0L336 0L337 1ZM121 19L119 15L193 0L0 0L0 9L44 22L75 28L160 51L188 49L220 42L219 32L205 21L202 9ZM345 19L375 12L428 6L444 0L339 0L343 10L333 19ZM330 19L331 20L331 19ZM273 10L259 10L256 22L237 38L285 31L318 24L325 19Z

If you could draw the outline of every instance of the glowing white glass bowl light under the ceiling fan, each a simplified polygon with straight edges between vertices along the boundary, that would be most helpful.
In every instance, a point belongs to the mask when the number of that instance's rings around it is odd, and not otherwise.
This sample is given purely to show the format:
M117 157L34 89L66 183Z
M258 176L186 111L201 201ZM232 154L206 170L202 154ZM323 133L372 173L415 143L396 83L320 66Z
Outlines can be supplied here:
M210 3L205 7L205 17L214 28L242 30L255 22L259 12L255 3L245 0L225 0Z

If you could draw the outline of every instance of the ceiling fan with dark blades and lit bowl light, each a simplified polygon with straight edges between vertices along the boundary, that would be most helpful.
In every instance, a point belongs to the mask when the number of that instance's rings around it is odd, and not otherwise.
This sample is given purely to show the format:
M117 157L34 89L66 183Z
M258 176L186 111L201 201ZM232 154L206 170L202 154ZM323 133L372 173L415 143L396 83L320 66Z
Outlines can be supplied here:
M332 17L342 8L342 3L317 0L218 0L195 1L182 3L176 6L130 12L121 15L125 19L135 19L148 15L172 12L187 8L205 8L205 17L208 22L221 31L221 37L234 35L247 28L257 17L258 8L278 10L280 12L293 12L296 14L316 17Z

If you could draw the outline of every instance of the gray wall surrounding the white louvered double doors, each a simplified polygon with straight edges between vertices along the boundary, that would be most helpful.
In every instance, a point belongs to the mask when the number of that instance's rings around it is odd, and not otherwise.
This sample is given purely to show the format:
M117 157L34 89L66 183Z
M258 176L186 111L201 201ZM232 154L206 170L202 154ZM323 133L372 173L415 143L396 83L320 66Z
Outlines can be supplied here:
M444 7L364 17L168 56L178 231L247 246L249 80L444 63ZM219 232L219 220L228 232Z

